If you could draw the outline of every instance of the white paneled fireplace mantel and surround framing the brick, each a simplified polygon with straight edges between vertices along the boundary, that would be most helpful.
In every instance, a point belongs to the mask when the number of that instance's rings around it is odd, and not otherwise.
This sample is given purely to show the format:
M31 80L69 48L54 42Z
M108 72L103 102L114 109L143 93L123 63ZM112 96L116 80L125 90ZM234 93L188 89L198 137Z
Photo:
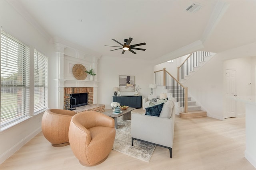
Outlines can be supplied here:
M54 79L58 84L58 108L64 108L64 88L92 88L93 101L90 104L97 104L97 61L99 57L94 56L93 53L78 50L82 49L79 47L74 48L62 43L55 43L54 45L56 57L58 58L58 78ZM93 68L96 73L94 81L90 80L90 76L87 76L85 80L77 80L72 73L72 68L75 64L82 64L86 70Z

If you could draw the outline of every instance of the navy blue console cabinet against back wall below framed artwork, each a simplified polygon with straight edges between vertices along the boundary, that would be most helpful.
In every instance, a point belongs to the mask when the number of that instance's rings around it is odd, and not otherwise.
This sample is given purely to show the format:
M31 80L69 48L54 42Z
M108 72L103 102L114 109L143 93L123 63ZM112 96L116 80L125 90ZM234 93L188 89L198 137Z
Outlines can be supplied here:
M113 96L113 102L138 109L142 106L142 96Z

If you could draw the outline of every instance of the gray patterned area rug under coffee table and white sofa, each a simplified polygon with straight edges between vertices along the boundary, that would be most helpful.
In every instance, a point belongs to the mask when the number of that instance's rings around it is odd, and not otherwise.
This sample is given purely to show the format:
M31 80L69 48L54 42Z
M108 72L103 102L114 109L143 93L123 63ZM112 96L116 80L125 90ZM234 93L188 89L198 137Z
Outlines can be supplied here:
M118 129L116 129L113 150L149 162L155 148L155 145L137 140L133 141L132 146L131 120L123 121L120 117L118 118Z

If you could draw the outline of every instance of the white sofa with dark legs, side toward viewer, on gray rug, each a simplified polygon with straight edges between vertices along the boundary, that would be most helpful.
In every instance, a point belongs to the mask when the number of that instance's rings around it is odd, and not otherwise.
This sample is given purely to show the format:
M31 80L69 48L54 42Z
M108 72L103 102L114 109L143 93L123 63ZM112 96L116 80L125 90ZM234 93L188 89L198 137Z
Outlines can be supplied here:
M170 116L170 117L169 117ZM175 123L175 98L168 98L158 116L132 114L132 145L134 140L144 141L170 151L172 158L172 144Z

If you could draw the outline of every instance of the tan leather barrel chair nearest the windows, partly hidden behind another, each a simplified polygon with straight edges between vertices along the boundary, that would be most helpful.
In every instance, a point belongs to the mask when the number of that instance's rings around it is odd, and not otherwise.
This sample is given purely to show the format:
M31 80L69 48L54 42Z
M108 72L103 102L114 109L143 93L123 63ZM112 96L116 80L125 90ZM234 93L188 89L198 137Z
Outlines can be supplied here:
M54 147L69 145L68 129L76 112L63 109L48 109L42 117L42 133Z

